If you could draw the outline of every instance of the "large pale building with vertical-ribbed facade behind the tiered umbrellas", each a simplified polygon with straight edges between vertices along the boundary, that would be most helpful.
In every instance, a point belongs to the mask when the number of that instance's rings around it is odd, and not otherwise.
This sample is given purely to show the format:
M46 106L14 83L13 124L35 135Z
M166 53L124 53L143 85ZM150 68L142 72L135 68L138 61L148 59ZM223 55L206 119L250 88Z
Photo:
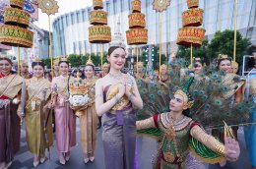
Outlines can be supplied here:
M108 26L112 33L118 17L121 18L121 31L125 34L128 29L128 15L131 13L132 0L105 0L104 10L108 12ZM153 10L153 0L141 0L142 13L146 14L149 29L149 43L160 43L159 13ZM206 36L212 39L215 32L233 29L233 9L235 0L200 0L199 8L204 9L203 28ZM83 4L82 4L83 5ZM244 37L256 44L256 1L238 0L237 29ZM100 46L90 45L88 28L90 27L90 12L93 7L71 12L53 21L54 56L72 53L84 54L99 52ZM169 55L177 50L176 38L178 28L182 27L182 12L187 10L186 0L171 0L171 5L162 13L161 43L162 53ZM104 45L106 50L108 44ZM132 47L132 46L129 46Z

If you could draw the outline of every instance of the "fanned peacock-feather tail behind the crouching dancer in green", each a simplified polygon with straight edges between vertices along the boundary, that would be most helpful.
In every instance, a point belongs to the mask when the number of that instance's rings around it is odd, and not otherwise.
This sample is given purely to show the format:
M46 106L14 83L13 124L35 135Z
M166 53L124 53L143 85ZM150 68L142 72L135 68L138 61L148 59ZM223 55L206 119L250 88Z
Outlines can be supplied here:
M244 80L236 75L226 75L211 67L200 75L194 75L186 68L186 61L176 59L168 65L170 81L167 90L162 90L158 81L143 82L137 79L138 88L144 102L143 110L137 111L138 120L169 111L169 100L173 93L183 86L190 87L194 105L189 116L206 128L222 128L223 121L229 126L254 123L249 121L250 111L256 104L252 97L234 103L231 96ZM194 78L191 78L194 77ZM190 86L187 81L194 80Z

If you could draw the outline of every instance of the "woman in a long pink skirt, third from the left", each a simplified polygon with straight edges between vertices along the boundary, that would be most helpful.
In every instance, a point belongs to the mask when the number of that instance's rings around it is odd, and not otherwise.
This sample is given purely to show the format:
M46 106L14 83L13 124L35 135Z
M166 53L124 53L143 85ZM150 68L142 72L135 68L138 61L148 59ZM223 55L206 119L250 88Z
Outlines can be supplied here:
M55 116L55 138L59 162L65 164L70 158L70 148L76 145L76 117L69 103L69 63L65 58L59 62L60 76L52 80L52 99Z

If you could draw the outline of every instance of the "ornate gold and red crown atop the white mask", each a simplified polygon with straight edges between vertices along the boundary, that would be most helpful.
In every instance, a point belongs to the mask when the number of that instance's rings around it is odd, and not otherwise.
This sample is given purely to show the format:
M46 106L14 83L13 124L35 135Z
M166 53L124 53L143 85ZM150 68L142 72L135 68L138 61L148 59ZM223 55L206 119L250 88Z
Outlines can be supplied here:
M83 83L83 80L79 76L71 81L69 87L71 95L85 95L88 92L87 85Z

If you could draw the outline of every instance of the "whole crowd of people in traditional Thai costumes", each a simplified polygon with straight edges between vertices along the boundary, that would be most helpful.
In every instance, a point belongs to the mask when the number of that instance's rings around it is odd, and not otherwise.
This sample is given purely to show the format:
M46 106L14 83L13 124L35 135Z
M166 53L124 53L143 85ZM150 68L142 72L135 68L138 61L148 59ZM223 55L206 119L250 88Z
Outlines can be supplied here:
M79 118L81 128L85 163L95 161L96 133L97 128L102 125L106 169L135 168L136 131L143 133L147 129L159 130L159 148L153 164L156 169L191 168L192 165L188 165L186 160L188 155L193 155L189 153L191 142L197 142L198 147L211 150L211 156L205 151L197 152L204 157L198 161L220 162L224 166L225 160L238 159L240 149L235 140L237 127L232 128L233 137L224 135L221 130L213 130L213 135L220 139L217 140L186 114L195 104L188 86L193 85L194 81L207 79L206 76L201 76L206 69L201 59L194 59L190 68L187 68L195 74L193 81L189 78L184 85L186 87L179 86L174 91L168 100L169 111L143 120L137 119L136 111L143 109L147 100L142 99L142 91L137 82L160 84L160 91L167 93L169 84L172 83L168 74L169 66L161 65L160 75L155 75L145 72L144 64L139 62L134 76L124 74L121 70L126 61L126 50L121 46L109 47L106 59L108 64L103 64L102 71L96 76L95 65L91 60L86 63L83 72L76 70L70 75L69 62L66 58L60 58L54 62L53 72L45 75L44 64L34 59L32 74L28 72L28 63L21 62L21 75L17 75L12 72L12 60L7 56L0 58L0 169L10 167L19 150L20 124L23 121L26 122L26 141L33 155L33 167L47 159L45 152L52 148L54 138L59 162L65 165L70 160L72 147L77 143L76 117ZM217 62L217 69L224 72L226 80L236 77L236 67L225 55ZM88 88L88 101L79 109L69 99L70 94L79 94L71 93L70 90L70 85L76 80L83 82ZM234 104L244 99L246 81L242 77L239 80L237 83L225 81L226 85L235 85L235 89L224 93L221 96L223 99L233 100ZM255 85L251 84L251 95L256 95ZM255 112L255 108L252 111ZM55 127L55 137L52 124ZM255 168L255 126L246 127L245 136L250 149L250 162L252 168Z

